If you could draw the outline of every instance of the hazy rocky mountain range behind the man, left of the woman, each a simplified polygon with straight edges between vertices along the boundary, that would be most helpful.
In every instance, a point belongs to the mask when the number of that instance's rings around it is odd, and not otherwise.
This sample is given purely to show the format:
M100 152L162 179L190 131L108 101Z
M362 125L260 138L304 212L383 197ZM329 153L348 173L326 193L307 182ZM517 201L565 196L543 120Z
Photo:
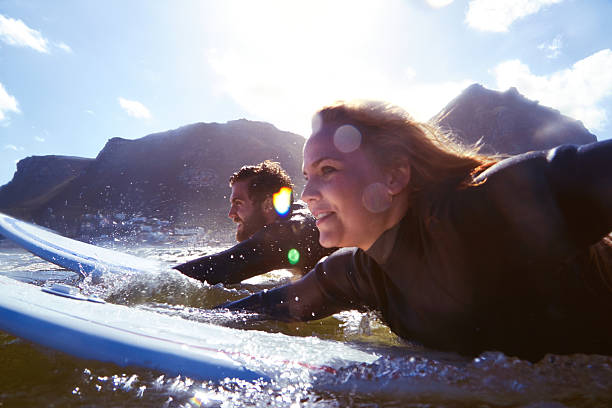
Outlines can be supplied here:
M302 136L244 119L196 123L135 140L113 138L95 159L73 159L82 163L78 169L73 164L73 172L59 166L55 182L40 169L53 167L58 159L20 161L13 180L0 190L0 211L77 237L129 233L143 228L144 220L148 230L198 225L230 229L226 214L232 173L244 164L275 160L301 191L303 144ZM68 160L61 163L66 167ZM51 186L52 193L29 190L28 180ZM10 191L22 191L27 200L11 199Z

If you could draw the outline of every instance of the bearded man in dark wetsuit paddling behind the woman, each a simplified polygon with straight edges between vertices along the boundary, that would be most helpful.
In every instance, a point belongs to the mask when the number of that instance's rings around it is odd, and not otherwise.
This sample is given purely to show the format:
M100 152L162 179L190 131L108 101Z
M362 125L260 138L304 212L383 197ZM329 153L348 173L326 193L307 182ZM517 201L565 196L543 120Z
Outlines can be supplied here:
M229 180L230 217L237 245L214 255L175 266L209 284L238 283L274 269L305 274L335 248L319 244L315 219L302 201L293 202L291 178L276 162L243 166ZM275 195L285 208L275 208ZM276 207L279 207L278 203Z

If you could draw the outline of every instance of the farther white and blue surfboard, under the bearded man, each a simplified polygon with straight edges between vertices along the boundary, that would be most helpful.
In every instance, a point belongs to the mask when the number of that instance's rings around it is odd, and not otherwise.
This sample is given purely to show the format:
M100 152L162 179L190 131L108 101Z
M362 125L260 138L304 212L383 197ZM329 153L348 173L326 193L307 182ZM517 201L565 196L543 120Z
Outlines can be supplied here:
M82 275L107 271L147 273L168 269L162 262L101 248L0 213L0 235L36 256Z

